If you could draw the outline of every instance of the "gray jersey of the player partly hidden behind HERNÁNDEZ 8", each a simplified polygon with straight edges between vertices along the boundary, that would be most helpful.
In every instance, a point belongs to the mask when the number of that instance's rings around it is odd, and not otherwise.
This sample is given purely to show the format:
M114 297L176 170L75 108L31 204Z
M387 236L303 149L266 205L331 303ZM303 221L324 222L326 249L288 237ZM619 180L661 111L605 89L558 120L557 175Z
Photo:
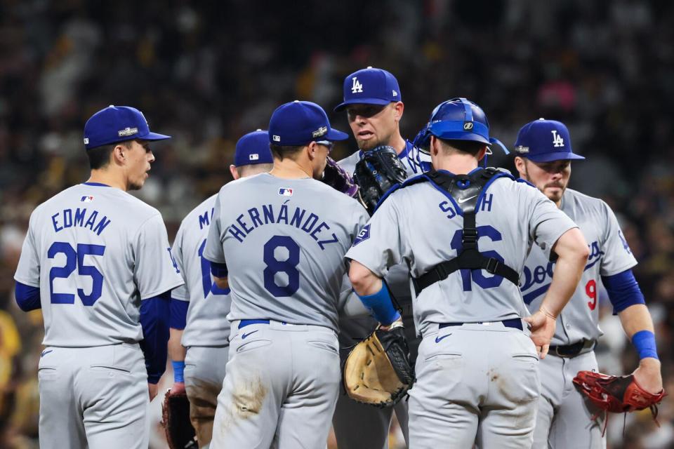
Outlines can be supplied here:
M230 335L230 290L213 283L211 262L204 257L217 196L206 199L185 217L171 248L185 279L185 285L173 290L171 298L190 302L181 340L184 347L224 346Z

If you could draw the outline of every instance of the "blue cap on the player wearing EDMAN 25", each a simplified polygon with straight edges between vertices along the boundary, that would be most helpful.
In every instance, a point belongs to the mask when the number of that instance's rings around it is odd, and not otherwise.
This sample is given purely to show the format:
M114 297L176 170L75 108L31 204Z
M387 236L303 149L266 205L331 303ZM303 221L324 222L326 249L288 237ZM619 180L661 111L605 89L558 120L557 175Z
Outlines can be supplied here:
M170 135L151 133L147 120L135 107L110 105L91 116L84 125L84 147L100 147L125 140L164 140Z

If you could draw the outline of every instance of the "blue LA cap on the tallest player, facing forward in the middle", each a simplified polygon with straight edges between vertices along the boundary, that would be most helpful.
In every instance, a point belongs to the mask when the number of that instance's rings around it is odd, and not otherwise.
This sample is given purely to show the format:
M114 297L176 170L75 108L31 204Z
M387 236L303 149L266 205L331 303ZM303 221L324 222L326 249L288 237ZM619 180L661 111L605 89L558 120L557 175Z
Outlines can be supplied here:
M335 111L341 111L348 105L380 105L402 101L398 80L384 69L367 67L353 72L344 79L344 101Z

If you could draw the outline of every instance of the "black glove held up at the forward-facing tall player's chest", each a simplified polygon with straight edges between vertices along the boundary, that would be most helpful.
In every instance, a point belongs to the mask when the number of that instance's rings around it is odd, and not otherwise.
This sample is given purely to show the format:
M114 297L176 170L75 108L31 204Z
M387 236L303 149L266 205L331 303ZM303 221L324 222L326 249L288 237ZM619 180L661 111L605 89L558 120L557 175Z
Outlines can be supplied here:
M364 152L353 177L360 187L362 202L372 215L388 189L407 178L407 171L393 147L381 146Z

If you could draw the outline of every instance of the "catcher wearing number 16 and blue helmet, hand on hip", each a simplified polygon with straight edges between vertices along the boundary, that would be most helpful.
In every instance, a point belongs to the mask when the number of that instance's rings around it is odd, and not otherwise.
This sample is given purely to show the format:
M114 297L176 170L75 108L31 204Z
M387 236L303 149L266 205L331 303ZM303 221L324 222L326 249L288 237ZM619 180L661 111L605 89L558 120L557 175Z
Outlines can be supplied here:
M477 438L480 448L530 448L538 356L580 278L586 242L536 189L478 168L495 140L475 103L439 105L419 142L428 142L437 171L392 192L346 255L353 288L383 326L399 318L381 279L409 263L423 335L409 445L470 448ZM527 316L517 283L534 242L558 262L541 308Z

